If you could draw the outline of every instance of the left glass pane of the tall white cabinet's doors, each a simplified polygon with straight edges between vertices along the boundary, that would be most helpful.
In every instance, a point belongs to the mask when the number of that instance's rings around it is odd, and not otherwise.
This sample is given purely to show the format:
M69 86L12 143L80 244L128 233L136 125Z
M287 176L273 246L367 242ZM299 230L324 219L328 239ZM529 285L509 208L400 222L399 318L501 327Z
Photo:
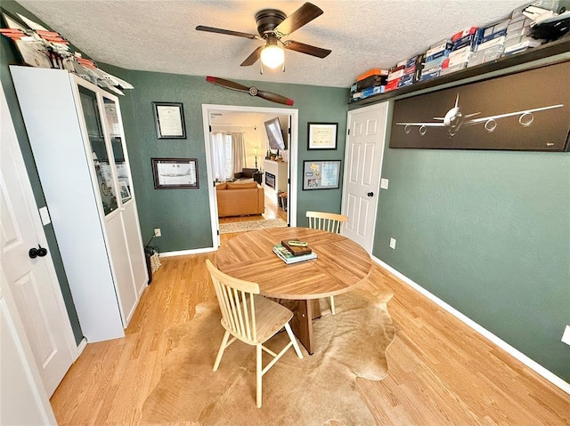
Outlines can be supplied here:
M97 176L98 191L101 197L103 212L105 215L116 210L118 207L113 185L113 175L109 153L105 145L103 126L99 116L97 96L94 92L79 85L79 98L81 99L81 109L85 117L87 135L91 148L91 156L94 162L95 174Z

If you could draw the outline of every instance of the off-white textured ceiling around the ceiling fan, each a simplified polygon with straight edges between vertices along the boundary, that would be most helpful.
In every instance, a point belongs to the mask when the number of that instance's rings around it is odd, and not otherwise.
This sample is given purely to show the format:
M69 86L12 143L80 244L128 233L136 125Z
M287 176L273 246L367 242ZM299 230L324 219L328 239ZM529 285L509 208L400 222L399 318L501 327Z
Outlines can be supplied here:
M295 12L303 1L18 0L93 60L121 68L238 80L349 87L463 28L507 18L521 0L314 0L324 13L283 40L331 49L325 59L285 53L285 72L240 63L260 44L196 31L257 34L261 9ZM526 2L527 3L527 2Z

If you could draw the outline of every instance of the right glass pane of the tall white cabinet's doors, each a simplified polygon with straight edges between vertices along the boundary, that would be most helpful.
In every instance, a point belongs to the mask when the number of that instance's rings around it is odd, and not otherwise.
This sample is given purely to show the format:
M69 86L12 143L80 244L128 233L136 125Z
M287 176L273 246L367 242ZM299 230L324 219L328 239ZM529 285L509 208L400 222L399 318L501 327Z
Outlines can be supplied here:
M130 171L125 157L125 145L123 134L121 132L122 125L118 117L118 106L115 100L111 100L103 96L103 106L105 109L105 119L109 140L113 151L113 159L115 160L115 168L118 179L118 193L121 202L125 204L133 197L131 189Z

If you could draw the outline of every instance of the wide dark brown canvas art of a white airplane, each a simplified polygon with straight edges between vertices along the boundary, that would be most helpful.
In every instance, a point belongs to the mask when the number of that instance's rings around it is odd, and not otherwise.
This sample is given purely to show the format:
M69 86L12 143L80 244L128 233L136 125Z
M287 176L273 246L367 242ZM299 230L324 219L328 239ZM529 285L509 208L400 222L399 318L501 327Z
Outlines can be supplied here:
M390 148L565 151L570 63L396 100Z

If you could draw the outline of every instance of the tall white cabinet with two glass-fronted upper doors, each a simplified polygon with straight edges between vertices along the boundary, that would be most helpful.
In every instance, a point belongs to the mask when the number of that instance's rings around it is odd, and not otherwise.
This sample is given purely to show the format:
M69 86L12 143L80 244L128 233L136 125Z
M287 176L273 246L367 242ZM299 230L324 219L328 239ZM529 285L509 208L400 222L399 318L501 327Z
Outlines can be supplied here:
M10 70L83 334L122 337L148 276L118 99L66 70Z

